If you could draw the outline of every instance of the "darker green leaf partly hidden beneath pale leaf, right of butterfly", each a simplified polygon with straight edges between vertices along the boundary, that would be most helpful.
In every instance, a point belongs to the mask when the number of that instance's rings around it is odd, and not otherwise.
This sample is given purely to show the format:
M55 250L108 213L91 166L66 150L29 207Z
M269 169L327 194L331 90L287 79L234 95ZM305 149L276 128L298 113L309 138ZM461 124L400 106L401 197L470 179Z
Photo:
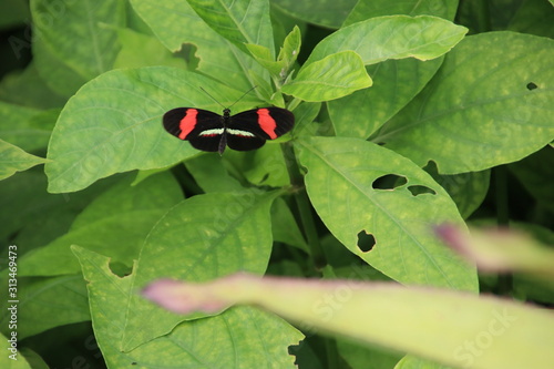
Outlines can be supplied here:
M442 60L387 60L368 66L371 89L327 103L336 135L368 139L421 92Z

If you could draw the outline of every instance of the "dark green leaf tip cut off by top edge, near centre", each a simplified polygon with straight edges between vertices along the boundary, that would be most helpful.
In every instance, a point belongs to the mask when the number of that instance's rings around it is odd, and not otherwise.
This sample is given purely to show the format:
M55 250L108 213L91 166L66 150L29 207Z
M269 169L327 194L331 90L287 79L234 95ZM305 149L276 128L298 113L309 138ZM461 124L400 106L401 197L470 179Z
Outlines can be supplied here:
M356 6L356 0L295 1L273 0L271 6L289 17L325 28L339 28Z

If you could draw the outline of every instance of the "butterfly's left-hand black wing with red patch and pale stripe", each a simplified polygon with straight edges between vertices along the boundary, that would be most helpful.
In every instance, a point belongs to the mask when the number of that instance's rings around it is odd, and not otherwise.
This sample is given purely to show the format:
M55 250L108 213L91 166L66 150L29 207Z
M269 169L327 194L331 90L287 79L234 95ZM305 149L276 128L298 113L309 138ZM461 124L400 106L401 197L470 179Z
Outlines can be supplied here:
M164 114L165 131L179 140L186 140L197 150L216 152L224 133L223 116L214 112L177 107Z

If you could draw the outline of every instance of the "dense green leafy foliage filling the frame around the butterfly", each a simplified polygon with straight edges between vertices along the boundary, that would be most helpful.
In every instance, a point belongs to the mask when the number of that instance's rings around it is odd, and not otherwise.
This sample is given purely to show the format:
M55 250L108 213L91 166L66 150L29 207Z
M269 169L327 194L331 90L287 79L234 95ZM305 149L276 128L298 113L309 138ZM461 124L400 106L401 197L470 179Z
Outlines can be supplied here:
M478 274L433 232L501 224L554 244L551 2L7 3L0 280L17 279L18 368L552 366L537 362L552 358L536 357L542 346L514 346L544 344L552 315L510 305L531 328L505 327L489 350L479 337L504 305L478 295L551 306L552 277ZM201 153L161 124L178 106L220 112L201 86L234 112L287 107L295 129L254 152ZM538 259L513 255L523 271ZM138 294L237 271L296 277L278 299L278 283L246 299L249 279L224 285L228 305L276 304L281 317L243 305L178 315ZM363 284L326 315L314 278L341 298L345 278L386 281L394 303L370 306ZM7 305L2 367L14 362ZM441 327L456 309L458 328ZM468 341L484 355L452 352Z

